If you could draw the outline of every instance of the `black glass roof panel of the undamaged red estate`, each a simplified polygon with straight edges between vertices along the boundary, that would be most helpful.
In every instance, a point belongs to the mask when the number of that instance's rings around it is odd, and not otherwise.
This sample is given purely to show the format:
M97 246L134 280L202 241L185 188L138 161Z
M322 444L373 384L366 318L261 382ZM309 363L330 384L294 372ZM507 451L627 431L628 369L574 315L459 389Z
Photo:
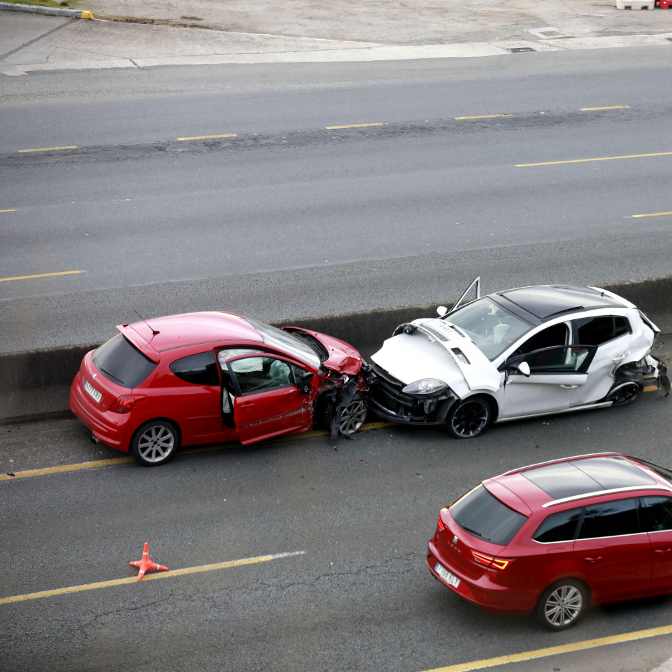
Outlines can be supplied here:
M556 462L522 471L522 475L553 499L656 483L636 464L619 457Z

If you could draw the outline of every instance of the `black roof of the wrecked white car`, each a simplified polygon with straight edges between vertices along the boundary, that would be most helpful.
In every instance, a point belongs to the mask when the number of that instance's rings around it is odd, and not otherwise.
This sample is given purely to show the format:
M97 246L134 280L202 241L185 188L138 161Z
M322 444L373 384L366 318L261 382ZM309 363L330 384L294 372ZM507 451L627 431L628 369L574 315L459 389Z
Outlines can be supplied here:
M581 312L595 308L627 308L614 295L593 287L535 285L504 290L491 295L511 301L540 321L553 319L563 312Z

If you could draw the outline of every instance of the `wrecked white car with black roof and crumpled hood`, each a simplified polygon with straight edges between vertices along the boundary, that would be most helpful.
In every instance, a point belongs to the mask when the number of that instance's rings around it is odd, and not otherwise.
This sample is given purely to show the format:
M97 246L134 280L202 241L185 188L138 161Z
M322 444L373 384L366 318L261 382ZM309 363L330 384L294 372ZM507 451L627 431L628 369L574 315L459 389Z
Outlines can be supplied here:
M477 298L460 306L475 286ZM597 287L542 285L480 297L474 280L451 310L395 329L371 360L370 408L455 438L490 423L624 406L647 382L669 394L651 355L660 329Z

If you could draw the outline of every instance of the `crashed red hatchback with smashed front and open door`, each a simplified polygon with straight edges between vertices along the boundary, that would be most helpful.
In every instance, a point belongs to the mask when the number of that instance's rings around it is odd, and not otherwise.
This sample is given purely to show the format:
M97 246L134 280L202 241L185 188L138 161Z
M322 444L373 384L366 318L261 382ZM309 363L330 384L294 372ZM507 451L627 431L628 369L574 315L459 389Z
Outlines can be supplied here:
M146 465L180 445L356 432L366 418L360 353L338 338L226 312L124 324L86 353L70 391L93 440Z

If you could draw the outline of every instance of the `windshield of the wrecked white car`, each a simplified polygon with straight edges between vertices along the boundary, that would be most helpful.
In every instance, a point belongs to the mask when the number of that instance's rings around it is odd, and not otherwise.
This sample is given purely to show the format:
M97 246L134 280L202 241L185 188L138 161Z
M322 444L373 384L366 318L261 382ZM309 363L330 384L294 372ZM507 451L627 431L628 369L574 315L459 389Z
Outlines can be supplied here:
M533 326L488 297L467 303L447 314L445 320L460 327L490 361Z

